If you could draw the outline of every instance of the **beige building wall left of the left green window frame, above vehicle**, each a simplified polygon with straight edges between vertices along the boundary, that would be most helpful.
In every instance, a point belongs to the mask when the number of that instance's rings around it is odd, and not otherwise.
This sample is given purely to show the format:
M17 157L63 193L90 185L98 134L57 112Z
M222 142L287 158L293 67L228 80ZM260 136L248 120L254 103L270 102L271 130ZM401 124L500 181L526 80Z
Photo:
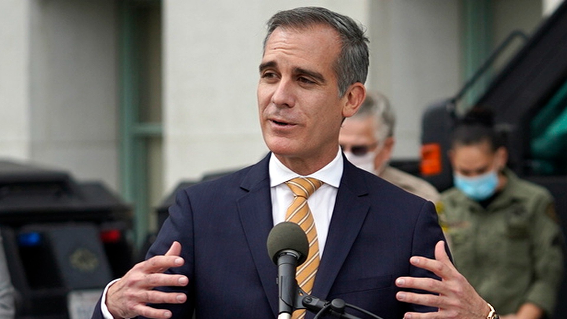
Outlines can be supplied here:
M0 1L0 157L118 189L117 6Z

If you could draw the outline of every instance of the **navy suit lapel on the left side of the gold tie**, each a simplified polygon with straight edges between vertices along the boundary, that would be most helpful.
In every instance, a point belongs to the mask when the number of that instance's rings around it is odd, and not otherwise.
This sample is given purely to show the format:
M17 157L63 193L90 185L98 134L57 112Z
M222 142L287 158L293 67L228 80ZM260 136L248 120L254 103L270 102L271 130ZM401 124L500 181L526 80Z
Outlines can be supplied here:
M251 167L240 184L240 188L248 192L237 200L237 204L240 222L264 292L274 316L277 316L277 267L268 257L268 250L266 249L266 239L273 227L268 162L269 156Z

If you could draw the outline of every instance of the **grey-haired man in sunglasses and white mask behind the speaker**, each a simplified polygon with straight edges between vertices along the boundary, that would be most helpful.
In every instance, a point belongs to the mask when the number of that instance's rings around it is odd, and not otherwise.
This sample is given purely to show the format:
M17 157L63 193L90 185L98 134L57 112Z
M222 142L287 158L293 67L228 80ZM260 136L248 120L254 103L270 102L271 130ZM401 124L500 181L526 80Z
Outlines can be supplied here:
M356 115L344 121L338 143L346 158L363 170L417 196L437 203L439 192L430 183L388 165L395 139L396 117L382 94L367 95Z

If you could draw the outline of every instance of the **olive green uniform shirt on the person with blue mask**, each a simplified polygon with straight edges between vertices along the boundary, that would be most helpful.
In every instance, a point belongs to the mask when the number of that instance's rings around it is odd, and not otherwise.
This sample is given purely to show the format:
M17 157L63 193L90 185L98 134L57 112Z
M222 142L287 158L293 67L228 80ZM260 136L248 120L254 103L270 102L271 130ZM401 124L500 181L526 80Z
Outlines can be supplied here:
M458 270L500 314L531 302L553 312L562 276L562 234L545 188L505 170L486 208L451 188L440 220Z

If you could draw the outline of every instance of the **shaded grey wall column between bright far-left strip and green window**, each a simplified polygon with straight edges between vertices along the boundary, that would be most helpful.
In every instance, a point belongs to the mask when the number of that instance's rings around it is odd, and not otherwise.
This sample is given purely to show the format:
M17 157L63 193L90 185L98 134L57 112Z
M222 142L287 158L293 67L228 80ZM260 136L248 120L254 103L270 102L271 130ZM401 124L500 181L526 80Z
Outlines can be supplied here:
M118 189L119 19L113 0L31 3L31 158Z

